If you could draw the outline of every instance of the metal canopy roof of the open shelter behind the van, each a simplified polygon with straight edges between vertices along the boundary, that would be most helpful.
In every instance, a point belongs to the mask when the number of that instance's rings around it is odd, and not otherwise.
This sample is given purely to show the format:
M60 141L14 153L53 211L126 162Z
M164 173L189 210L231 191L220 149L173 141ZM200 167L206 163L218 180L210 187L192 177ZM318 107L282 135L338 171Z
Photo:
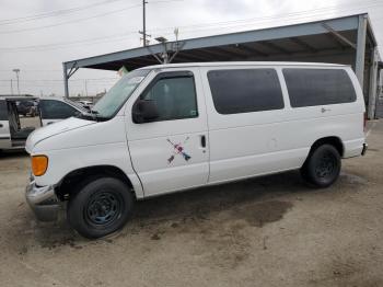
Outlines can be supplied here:
M291 60L297 56L343 54L355 55L355 49L330 33L332 27L351 43L357 42L359 18L315 21L255 31L237 32L166 43L170 57L179 49L172 62L241 61L241 60ZM374 42L371 31L370 41ZM374 43L375 44L375 43ZM65 62L66 69L94 68L118 70L125 66L132 70L159 64L153 56L161 55L164 45L151 45L95 57ZM344 62L345 64L345 62Z

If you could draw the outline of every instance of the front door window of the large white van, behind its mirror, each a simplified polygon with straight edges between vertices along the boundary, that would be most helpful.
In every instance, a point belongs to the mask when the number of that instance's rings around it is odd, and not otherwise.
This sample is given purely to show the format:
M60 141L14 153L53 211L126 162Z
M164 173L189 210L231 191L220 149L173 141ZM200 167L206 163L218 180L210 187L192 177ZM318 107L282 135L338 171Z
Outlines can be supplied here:
M155 102L159 117L155 122L198 117L194 78L160 78L141 96Z

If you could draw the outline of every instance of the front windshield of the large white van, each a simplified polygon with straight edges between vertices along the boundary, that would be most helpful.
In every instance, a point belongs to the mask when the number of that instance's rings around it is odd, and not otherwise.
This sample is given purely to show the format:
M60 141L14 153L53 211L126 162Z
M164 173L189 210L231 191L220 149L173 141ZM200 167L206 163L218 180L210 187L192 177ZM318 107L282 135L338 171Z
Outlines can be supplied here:
M92 112L101 118L112 118L134 93L151 70L135 70L125 74L93 106Z

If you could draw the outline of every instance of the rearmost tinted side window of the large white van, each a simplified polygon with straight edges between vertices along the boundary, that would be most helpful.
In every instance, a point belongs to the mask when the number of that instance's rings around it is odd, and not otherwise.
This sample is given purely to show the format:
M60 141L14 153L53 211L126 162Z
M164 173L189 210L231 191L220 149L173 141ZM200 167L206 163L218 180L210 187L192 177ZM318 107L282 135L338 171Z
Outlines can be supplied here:
M352 82L340 69L283 69L292 107L351 103Z

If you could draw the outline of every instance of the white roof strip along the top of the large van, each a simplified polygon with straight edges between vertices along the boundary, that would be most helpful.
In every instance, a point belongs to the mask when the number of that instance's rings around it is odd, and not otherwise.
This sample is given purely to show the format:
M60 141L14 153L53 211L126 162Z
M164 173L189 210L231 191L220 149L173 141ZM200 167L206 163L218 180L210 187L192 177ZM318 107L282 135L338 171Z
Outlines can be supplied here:
M329 62L300 62L300 61L210 61L210 62L181 62L152 65L140 68L182 68L182 67L223 67L223 66L300 66L300 67L348 67L348 65Z

